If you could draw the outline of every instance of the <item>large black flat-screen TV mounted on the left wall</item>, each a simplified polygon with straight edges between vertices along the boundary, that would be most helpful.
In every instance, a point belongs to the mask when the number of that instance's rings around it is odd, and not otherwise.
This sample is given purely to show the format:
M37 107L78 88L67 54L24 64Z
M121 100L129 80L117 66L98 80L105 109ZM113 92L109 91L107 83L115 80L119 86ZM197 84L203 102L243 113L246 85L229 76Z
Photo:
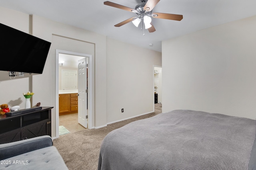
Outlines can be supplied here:
M0 23L0 70L42 74L51 43Z

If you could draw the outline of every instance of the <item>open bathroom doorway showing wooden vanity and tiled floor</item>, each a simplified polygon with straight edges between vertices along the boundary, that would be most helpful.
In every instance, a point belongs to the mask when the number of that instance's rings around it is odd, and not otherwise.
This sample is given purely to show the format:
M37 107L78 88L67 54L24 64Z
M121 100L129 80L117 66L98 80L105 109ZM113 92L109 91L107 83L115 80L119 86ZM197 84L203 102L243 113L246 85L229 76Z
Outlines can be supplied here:
M81 113L78 109L81 109L81 107L86 108L86 110L83 110L84 114L82 114L85 115L84 117L88 112L87 102L84 106L79 100L82 93L79 93L80 96L78 96L79 80L88 78L87 75L78 76L80 75L80 69L78 68L78 61L80 60L87 63L87 57L59 54L59 135L68 132L74 133L87 128L87 119L80 121L82 116L78 115L78 113ZM87 89L87 81L84 81L84 84Z

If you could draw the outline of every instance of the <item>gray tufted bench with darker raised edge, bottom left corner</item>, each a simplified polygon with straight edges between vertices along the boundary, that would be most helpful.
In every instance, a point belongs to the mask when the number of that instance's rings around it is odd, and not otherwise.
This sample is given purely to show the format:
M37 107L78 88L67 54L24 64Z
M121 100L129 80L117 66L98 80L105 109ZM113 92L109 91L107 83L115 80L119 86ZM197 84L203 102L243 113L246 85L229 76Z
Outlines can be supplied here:
M50 136L0 144L0 170L68 170Z

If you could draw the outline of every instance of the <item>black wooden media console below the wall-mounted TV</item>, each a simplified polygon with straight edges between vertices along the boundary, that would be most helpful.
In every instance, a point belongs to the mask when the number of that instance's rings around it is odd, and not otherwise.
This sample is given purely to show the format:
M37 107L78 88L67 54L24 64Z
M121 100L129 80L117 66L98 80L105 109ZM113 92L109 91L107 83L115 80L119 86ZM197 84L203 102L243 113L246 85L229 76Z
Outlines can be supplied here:
M0 144L42 135L51 136L52 108L34 107L0 115Z

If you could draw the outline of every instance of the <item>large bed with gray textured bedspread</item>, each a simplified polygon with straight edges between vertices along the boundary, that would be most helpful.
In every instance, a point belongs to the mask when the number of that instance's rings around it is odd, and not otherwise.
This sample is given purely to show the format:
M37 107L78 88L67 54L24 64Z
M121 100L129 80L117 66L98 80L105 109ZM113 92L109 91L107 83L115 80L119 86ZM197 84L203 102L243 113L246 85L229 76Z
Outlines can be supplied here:
M98 170L256 170L256 120L174 110L102 141Z

